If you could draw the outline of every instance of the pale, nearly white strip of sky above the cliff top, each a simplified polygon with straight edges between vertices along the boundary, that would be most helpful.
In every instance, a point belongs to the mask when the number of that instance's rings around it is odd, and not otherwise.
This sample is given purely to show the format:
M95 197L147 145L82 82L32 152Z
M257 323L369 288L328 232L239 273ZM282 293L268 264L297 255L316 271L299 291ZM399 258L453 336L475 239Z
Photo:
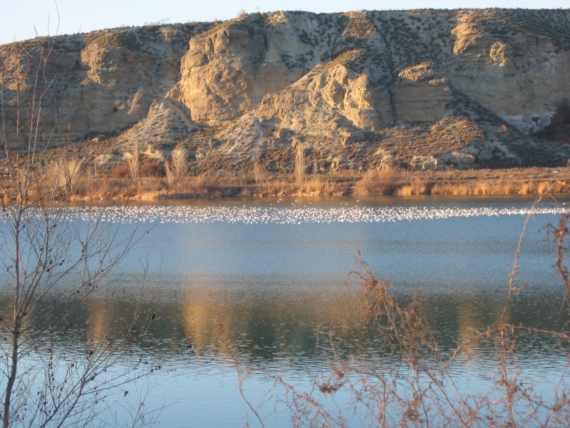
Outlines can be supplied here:
M0 44L118 26L232 19L242 11L346 12L390 9L570 8L570 0L0 0Z

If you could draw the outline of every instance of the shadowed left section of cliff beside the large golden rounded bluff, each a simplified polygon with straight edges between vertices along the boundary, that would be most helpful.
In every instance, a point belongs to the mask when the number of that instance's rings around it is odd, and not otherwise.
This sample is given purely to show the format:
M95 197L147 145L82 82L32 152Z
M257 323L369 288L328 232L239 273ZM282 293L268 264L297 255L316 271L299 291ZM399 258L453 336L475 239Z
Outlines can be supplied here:
M12 137L16 97L31 100L35 93L38 101L38 90L44 89L43 141L81 141L134 126L147 117L152 101L162 100L180 80L188 39L208 26L106 30L0 46L8 142L23 143L26 137ZM21 106L19 120L25 121L28 112Z

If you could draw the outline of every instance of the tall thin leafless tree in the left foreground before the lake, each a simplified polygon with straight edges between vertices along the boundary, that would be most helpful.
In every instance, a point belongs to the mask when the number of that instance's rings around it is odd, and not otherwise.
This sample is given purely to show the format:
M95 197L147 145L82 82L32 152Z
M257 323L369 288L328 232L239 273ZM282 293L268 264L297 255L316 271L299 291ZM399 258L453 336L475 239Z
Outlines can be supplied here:
M142 360L116 369L127 342L135 340L133 331L145 332L152 316L134 313L108 334L89 338L83 350L61 345L70 317L100 290L138 233L120 233L119 224L103 221L96 210L70 215L53 198L71 190L81 165L76 159L50 162L50 149L61 146L55 137L54 80L48 74L54 43L35 39L0 52L4 428L92 424L100 403L118 387L154 370L152 365L141 370ZM51 132L46 133L45 121ZM57 165L51 180L46 180L46 164Z

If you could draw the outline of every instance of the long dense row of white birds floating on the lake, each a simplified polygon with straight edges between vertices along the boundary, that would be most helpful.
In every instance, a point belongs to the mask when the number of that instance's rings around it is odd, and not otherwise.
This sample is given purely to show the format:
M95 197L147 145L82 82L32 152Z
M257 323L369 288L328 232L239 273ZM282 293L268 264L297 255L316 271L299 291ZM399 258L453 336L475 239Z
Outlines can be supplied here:
M385 223L402 220L435 220L452 217L556 214L564 205L529 207L426 207L426 206L230 206L145 205L62 208L58 217L68 220L97 220L111 223ZM45 213L37 213L43 217Z

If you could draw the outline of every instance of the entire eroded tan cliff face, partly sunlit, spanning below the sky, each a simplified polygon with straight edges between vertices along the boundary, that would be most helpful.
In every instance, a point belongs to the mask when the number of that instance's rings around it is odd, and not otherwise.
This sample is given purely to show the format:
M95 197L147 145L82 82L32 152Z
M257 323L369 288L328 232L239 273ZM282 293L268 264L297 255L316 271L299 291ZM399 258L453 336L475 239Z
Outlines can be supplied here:
M274 12L0 46L8 143L53 46L43 138L192 149L197 169L559 165L537 141L570 94L570 11ZM22 97L20 97L22 98ZM50 104L51 103L51 104ZM47 110L46 110L47 111ZM21 117L21 116L20 116ZM289 153L289 154L288 154ZM249 166L248 166L249 165Z

